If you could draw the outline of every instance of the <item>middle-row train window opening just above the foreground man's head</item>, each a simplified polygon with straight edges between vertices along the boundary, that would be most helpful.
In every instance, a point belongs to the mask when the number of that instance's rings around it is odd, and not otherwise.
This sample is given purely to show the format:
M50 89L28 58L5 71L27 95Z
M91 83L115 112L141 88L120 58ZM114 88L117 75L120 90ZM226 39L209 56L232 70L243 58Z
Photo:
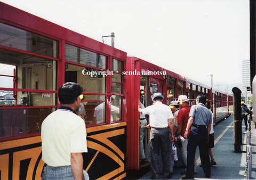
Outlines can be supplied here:
M78 83L86 93L105 93L106 76L103 75L104 72L106 71L67 64L65 82Z

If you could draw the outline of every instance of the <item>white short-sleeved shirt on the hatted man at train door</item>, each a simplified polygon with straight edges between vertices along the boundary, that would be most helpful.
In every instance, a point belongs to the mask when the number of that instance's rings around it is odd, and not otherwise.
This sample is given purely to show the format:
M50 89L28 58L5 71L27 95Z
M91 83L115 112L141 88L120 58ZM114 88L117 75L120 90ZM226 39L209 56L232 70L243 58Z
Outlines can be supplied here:
M143 114L149 115L149 125L151 127L167 127L169 126L168 119L173 119L173 114L169 106L160 101L156 101L155 104L141 109L141 111Z

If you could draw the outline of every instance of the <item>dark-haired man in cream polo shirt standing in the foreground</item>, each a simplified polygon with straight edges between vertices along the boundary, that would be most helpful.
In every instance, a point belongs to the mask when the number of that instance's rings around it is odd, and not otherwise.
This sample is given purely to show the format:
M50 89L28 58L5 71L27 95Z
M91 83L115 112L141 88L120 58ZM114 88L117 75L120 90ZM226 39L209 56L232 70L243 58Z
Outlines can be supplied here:
M83 99L81 86L66 83L59 88L61 107L42 123L42 179L89 179L83 170L82 152L87 152L83 119L75 114ZM84 171L84 172L83 172Z

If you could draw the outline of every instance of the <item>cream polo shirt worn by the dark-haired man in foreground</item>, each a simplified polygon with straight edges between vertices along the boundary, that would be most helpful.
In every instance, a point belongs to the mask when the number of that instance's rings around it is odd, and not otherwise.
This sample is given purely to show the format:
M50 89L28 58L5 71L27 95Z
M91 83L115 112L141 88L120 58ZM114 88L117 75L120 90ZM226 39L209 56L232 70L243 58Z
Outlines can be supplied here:
M45 118L41 136L43 161L49 166L70 166L70 153L87 152L84 120L66 107Z

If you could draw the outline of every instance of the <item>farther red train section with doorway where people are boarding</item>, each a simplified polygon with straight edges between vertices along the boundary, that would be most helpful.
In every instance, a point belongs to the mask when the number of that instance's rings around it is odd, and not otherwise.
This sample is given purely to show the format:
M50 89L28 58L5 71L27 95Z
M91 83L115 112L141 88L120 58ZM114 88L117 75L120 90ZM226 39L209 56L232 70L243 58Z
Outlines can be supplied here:
M153 104L151 97L155 92L161 92L165 97L163 103L169 105L177 100L179 95L187 95L190 105L195 104L196 96L203 94L212 101L212 110L215 114L214 122L218 122L230 114L233 108L232 96L219 91L212 92L211 87L192 79L183 77L175 72L156 66L139 58L127 57L127 162L128 169L140 169L139 159L139 128L140 116L138 104L140 89L145 94L145 105ZM228 99L227 99L228 97ZM230 107L230 109L229 109ZM223 112L224 110L224 112ZM221 114L221 116L220 116ZM148 134L145 144L147 146Z

